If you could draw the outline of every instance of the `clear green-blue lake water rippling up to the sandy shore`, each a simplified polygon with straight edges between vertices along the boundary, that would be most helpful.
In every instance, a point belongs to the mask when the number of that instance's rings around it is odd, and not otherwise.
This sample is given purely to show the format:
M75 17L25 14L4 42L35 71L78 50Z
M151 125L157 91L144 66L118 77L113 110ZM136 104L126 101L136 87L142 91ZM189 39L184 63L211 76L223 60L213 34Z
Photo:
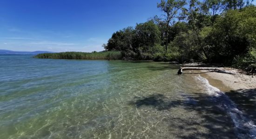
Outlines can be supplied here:
M256 138L226 95L177 68L0 56L0 139Z

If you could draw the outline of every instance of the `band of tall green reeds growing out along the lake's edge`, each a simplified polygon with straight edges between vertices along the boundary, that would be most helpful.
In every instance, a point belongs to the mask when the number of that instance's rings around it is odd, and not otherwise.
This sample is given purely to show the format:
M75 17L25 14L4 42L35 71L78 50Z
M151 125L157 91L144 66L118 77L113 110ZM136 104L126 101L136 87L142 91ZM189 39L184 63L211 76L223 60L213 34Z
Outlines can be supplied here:
M103 51L103 52L60 52L60 53L43 53L38 54L35 58L52 58L52 59L121 59L120 51Z

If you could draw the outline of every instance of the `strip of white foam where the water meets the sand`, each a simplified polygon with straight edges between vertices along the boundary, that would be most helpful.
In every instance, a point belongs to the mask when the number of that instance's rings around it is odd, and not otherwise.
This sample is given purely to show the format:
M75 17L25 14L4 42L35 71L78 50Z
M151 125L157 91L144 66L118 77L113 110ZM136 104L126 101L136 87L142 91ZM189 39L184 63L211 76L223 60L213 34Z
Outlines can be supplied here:
M230 118L236 126L236 134L240 139L256 139L256 125L253 121L243 116L243 112L236 108L236 104L229 99L220 89L209 84L209 81L202 76L196 76L196 78L206 88L208 95L213 97L216 101L216 105L220 105L224 111L229 114Z

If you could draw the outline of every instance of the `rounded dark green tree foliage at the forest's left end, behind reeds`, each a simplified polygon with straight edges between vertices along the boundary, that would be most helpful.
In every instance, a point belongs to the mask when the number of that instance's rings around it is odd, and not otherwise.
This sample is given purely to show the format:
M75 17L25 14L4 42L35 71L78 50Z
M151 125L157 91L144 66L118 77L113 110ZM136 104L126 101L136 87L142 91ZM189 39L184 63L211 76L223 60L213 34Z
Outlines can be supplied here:
M148 52L150 47L160 43L160 30L153 21L137 24L133 27L124 28L113 33L108 40L108 44L104 44L104 48L108 51L138 51Z

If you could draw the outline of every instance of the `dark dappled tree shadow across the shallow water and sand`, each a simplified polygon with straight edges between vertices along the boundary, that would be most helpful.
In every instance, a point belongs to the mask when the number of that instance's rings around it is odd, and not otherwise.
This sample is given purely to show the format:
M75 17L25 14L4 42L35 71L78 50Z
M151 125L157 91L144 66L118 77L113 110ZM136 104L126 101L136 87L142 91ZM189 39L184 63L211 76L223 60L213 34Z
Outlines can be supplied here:
M256 89L243 90L241 93L240 92L239 94L234 94L234 92L231 91L227 92L226 94L230 94L230 96L232 94L230 97L231 100L236 98L235 102L239 103L238 109L240 108L240 105L246 105L246 108L243 108L243 112L247 113L248 117L255 121ZM243 95L241 95L242 93ZM136 96L132 101L129 101L129 104L135 105L137 108L155 107L158 111L168 110L170 112L172 112L172 108L182 108L188 113L193 112L200 115L203 122L182 116L175 118L168 117L167 121L168 126L170 127L170 133L174 134L177 138L237 139L239 137L251 139L248 133L249 130L236 128L233 123L233 119L231 119L230 115L228 114L229 111L227 109L230 107L235 107L230 99L223 93L219 95L191 93L191 95L184 96L184 99L168 99L168 97L165 95L154 94L140 97ZM253 102L251 99L253 99ZM199 128L195 128L197 126ZM200 127L207 129L208 132L202 132ZM175 131L171 129L175 129ZM177 131L182 131L182 133Z

